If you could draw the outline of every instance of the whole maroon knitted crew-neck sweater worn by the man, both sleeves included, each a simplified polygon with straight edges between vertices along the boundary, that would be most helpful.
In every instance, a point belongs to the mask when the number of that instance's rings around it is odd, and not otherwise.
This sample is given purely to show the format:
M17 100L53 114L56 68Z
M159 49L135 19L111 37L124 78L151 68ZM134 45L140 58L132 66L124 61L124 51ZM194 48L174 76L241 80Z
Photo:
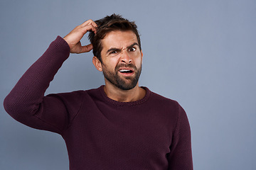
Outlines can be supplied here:
M181 106L146 87L139 101L108 98L103 86L44 96L70 49L56 38L4 100L14 119L62 135L70 169L193 169L191 131Z

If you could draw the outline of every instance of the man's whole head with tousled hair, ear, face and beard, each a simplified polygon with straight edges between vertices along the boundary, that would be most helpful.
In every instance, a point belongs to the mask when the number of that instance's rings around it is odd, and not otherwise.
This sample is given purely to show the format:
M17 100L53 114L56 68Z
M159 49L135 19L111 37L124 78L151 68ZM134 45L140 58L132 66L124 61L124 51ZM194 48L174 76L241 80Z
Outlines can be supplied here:
M98 21L97 33L90 33L92 62L103 72L106 86L122 90L138 86L142 72L142 47L134 22L113 14Z

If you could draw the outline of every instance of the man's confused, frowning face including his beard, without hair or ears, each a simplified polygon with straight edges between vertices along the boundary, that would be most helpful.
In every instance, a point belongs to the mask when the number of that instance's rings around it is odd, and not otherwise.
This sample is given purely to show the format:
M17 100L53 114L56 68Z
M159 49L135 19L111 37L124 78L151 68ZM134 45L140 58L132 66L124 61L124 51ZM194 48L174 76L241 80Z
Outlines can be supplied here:
M137 86L142 72L142 52L132 31L112 31L102 40L102 72L106 83L122 90Z

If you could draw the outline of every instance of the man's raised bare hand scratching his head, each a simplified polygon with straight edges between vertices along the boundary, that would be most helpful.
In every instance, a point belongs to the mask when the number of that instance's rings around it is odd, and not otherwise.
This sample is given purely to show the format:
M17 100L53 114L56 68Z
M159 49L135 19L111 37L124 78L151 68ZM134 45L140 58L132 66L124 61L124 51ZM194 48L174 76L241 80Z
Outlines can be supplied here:
M90 52L90 50L92 50L92 44L82 46L80 40L87 31L96 33L96 28L97 24L92 20L88 20L80 26L75 27L68 35L65 35L63 39L68 42L70 53L79 54L82 52Z

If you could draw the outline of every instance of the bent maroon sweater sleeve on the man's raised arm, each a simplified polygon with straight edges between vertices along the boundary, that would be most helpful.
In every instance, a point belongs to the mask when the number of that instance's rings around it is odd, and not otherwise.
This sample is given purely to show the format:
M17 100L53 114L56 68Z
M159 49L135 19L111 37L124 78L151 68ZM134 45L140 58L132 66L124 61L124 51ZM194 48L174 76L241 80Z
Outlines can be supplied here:
M58 36L6 96L6 112L31 128L61 134L68 125L67 107L58 96L44 94L69 54L68 43Z

